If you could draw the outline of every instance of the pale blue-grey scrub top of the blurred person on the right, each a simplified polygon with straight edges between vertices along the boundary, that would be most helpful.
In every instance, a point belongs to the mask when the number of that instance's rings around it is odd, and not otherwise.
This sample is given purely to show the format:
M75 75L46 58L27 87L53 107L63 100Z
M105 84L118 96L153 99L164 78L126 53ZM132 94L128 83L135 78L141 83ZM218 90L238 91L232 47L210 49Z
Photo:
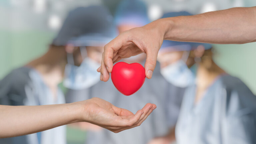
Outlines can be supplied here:
M240 79L220 76L196 104L195 92L192 86L184 94L178 144L256 143L256 96Z

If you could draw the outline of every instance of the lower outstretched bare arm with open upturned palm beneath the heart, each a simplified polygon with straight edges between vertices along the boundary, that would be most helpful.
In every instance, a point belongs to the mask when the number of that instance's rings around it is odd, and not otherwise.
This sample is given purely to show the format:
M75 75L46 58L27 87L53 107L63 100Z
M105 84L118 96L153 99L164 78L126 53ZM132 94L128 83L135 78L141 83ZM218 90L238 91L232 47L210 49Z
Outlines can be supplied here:
M0 105L0 138L36 133L82 121L117 133L139 126L155 108L156 105L148 103L133 114L100 98L56 105Z

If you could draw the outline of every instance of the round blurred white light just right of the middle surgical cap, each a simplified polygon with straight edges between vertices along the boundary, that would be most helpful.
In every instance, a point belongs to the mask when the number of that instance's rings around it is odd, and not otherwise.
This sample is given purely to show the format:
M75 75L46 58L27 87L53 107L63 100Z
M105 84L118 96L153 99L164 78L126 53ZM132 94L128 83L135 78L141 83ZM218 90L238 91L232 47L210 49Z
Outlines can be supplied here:
M159 5L153 4L148 8L148 17L151 21L157 20L162 17L163 11Z

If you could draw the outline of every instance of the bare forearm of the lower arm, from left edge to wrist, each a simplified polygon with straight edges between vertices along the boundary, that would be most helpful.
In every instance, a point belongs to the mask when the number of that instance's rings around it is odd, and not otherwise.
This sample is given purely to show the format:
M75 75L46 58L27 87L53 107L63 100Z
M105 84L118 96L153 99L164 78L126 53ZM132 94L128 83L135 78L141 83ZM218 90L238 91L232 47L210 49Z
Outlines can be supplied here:
M44 131L78 122L81 107L78 104L42 106L0 105L0 138Z

